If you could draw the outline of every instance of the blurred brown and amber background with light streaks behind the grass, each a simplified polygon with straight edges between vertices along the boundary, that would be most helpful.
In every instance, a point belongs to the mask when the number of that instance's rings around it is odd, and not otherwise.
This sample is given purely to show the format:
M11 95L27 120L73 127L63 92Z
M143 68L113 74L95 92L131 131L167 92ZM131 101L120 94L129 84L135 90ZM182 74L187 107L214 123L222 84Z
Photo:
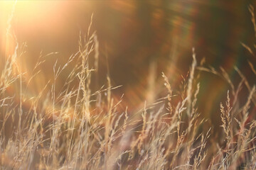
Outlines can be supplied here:
M255 63L255 56L241 42L255 49L248 6L256 6L256 1L17 1L12 12L14 3L0 1L1 63L13 52L15 41L19 45L26 42L26 53L19 63L27 72L41 53L58 52L48 55L36 78L38 84L31 91L42 89L53 76L57 59L64 64L78 51L80 31L87 33L92 13L91 30L97 31L100 43L97 84L106 84L109 73L113 86L122 85L113 91L114 96L120 98L124 94L123 105L130 110L145 100L166 95L162 94L161 72L169 77L176 89L174 94L178 94L191 66L192 47L198 63L205 58L204 66L217 70L223 67L235 84L240 81L234 70L237 66L255 84L247 63ZM68 74L68 70L65 72ZM230 86L206 72L201 73L200 83L198 102L203 105L199 111L218 123L215 115Z

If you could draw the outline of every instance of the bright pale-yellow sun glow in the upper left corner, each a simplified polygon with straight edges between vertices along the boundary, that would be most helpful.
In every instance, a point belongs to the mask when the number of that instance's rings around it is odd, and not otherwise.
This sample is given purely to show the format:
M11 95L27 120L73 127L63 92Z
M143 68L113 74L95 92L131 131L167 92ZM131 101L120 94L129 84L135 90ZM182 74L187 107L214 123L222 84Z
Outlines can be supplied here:
M11 54L16 37L50 30L60 23L65 1L0 1L1 50ZM15 17L14 17L15 16Z

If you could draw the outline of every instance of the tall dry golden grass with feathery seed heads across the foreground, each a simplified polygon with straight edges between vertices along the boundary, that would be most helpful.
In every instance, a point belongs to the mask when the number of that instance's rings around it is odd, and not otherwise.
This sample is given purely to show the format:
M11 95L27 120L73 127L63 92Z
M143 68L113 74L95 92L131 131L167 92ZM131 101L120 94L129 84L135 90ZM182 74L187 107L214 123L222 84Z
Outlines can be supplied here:
M256 34L255 10L248 10ZM114 95L121 86L112 84L109 72L105 84L95 84L101 43L91 18L80 32L78 51L64 64L55 60L45 67L56 52L42 52L26 71L21 64L26 44L16 40L9 23L6 49L14 46L1 60L0 169L256 169L256 89L238 67L233 66L240 81L233 83L225 69L198 61L192 48L181 88L170 83L169 72L156 75L151 64L146 98L129 108L125 94ZM255 47L242 45L253 55ZM252 74L255 67L248 60ZM46 71L53 77L43 76ZM198 102L204 72L229 86L225 101L213 106L220 128L198 111L206 104Z

